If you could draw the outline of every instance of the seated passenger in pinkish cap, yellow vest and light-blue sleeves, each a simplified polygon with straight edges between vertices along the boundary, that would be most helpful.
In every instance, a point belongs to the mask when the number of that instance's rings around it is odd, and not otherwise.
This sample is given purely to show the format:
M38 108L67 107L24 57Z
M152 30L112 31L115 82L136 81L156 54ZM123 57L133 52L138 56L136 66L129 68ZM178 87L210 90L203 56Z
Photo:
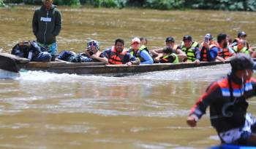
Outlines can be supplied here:
M131 49L129 49L129 54L140 60L140 64L153 64L154 61L149 54L148 49L143 45L140 47L140 39L135 37L132 39Z

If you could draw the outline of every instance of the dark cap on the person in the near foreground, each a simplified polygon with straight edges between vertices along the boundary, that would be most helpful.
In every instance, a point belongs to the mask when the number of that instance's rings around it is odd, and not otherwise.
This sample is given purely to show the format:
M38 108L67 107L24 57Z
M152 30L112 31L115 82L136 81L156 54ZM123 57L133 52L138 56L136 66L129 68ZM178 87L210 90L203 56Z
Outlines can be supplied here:
M232 60L230 60L230 65L233 72L246 69L253 70L256 68L252 58L244 53L238 53L235 57L233 57Z

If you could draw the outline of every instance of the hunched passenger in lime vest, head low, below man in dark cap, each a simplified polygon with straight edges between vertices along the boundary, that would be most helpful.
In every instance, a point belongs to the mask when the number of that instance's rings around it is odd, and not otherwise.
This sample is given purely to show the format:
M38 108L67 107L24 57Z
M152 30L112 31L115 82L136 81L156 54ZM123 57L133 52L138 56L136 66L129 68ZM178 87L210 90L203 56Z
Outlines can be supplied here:
M163 49L163 55L159 58L159 63L178 63L178 55L173 51L170 47Z

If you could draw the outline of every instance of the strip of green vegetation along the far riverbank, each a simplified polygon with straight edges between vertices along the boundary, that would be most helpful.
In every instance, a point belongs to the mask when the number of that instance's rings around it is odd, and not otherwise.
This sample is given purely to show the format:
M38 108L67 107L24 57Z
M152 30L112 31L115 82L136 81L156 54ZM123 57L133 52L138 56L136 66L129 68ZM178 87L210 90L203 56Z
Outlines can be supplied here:
M0 6L4 6L0 0ZM42 4L41 0L6 0L7 3ZM142 7L151 9L225 9L256 11L255 0L54 0L57 5L93 7Z

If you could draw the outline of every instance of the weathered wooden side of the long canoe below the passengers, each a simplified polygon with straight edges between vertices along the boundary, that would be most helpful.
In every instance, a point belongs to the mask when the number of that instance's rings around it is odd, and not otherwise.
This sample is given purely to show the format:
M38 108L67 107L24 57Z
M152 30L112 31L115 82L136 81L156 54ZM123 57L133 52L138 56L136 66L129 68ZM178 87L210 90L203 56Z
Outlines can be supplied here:
M134 73L146 73L151 71L167 71L182 68L195 68L207 65L219 65L223 64L221 62L211 62L211 63L200 63L199 65L195 63L178 63L178 64L153 64L153 65L55 65L50 67L42 67L39 65L23 65L20 66L28 71L48 71L53 73L76 73L79 75L83 74L115 74L125 75Z

